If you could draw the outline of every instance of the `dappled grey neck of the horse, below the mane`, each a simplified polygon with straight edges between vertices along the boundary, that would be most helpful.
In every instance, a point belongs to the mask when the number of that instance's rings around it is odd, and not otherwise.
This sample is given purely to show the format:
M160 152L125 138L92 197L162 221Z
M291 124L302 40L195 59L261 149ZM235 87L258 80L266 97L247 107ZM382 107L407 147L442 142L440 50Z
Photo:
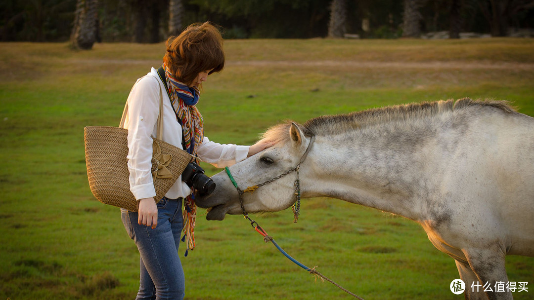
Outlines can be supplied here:
M437 139L431 127L318 137L310 194L424 220L425 196L442 178Z

